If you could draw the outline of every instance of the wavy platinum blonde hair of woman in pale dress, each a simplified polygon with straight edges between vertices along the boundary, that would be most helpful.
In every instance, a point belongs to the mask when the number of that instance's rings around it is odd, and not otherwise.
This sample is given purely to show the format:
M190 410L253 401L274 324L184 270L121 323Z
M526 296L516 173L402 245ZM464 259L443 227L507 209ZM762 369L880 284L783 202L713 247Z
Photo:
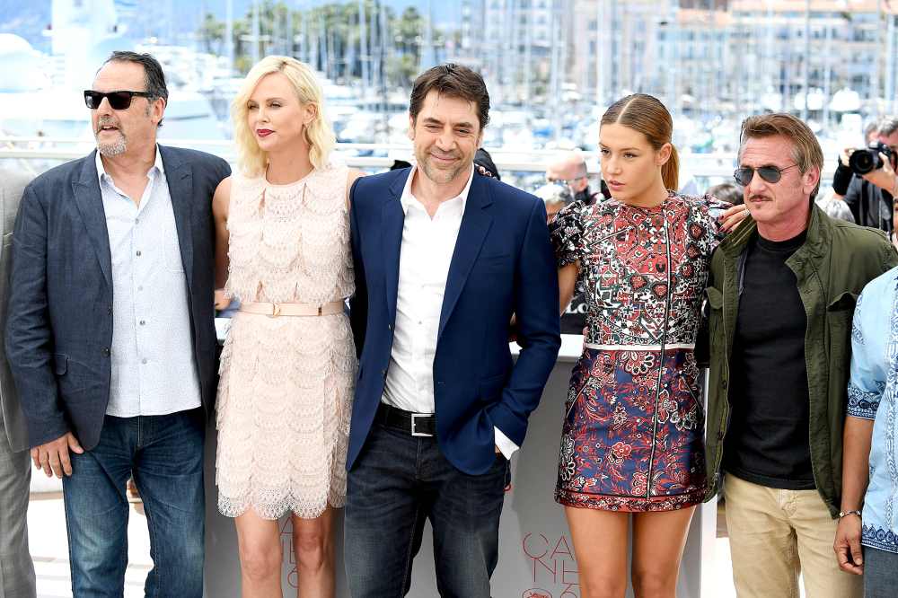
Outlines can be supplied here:
M259 176L268 165L268 155L256 142L256 137L247 124L247 103L262 77L280 73L293 84L296 98L302 104L315 106L315 118L304 128L305 141L309 144L309 160L315 168L324 168L330 160L330 151L336 144L333 128L324 114L324 96L321 85L315 79L312 69L292 57L269 56L262 58L243 79L240 92L231 102L233 137L237 145L237 156L241 170L250 176Z

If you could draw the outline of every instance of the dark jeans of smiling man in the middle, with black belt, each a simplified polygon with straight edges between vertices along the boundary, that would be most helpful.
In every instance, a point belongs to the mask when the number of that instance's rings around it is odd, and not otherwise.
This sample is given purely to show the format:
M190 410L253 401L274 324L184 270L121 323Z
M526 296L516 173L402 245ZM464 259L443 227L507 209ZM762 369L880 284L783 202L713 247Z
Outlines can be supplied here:
M348 475L344 558L353 598L409 592L427 519L440 595L488 598L508 476L502 455L472 476L445 459L436 437L374 423Z

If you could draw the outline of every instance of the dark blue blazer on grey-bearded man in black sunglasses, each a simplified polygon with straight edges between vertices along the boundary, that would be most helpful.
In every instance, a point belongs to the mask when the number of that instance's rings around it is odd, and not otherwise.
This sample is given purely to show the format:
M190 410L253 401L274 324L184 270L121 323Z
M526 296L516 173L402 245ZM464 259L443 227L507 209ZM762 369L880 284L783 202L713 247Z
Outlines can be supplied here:
M216 396L212 196L231 168L203 152L163 145L159 152L208 414ZM95 155L31 181L13 229L6 356L32 447L73 432L85 450L92 449L109 403L112 266Z

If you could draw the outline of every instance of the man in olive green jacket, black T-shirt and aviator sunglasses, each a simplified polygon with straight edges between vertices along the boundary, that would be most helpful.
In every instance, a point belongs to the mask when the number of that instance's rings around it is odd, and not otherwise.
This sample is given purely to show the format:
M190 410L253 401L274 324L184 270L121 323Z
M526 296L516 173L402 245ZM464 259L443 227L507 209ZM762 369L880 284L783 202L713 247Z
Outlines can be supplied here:
M711 259L709 495L723 488L740 598L850 598L832 541L841 494L851 316L898 263L885 235L833 220L814 197L823 152L788 114L745 119L736 180L753 221Z

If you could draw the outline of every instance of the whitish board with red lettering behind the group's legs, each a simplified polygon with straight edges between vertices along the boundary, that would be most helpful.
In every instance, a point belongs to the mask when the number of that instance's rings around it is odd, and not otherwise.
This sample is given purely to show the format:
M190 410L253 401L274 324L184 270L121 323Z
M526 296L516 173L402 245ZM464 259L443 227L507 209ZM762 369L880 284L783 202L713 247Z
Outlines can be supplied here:
M577 561L564 510L553 499L558 471L559 438L564 400L582 337L564 336L559 361L552 371L539 409L530 419L529 432L512 460L512 488L506 493L499 528L499 562L492 578L494 598L580 598ZM240 596L240 565L233 521L217 512L215 487L216 432L210 427L206 444L206 596ZM677 587L679 598L701 598L702 564L713 564L715 539L713 503L696 511L686 544ZM296 569L292 555L289 518L279 523L284 548L283 587L285 596L295 595ZM337 595L349 598L341 558L342 516L337 529ZM704 584L706 595L713 588ZM415 558L410 598L433 598L436 592L433 542L429 525ZM632 592L628 592L632 596Z

